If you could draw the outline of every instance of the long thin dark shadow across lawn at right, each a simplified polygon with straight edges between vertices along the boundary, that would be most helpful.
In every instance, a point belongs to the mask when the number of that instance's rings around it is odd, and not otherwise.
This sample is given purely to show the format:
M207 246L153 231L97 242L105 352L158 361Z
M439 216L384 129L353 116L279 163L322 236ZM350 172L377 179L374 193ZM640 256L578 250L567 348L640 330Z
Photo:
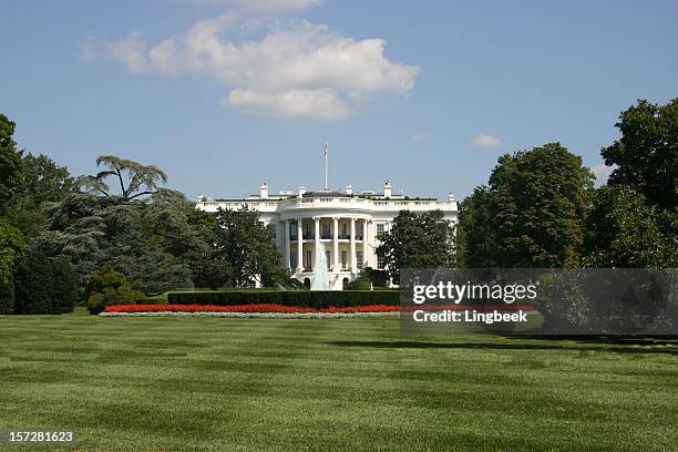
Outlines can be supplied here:
M634 338L535 338L507 337L506 339L546 340L551 342L527 343L496 343L496 342L418 342L410 340L368 341L340 340L327 342L337 347L371 347L384 349L479 349L479 350L573 350L573 351L609 351L616 353L664 353L678 355L676 340L648 340ZM554 341L568 340L568 343L554 343ZM574 343L573 343L574 342ZM608 347L606 347L606 345ZM617 346L617 347L615 347ZM629 347L635 346L635 347ZM661 347L661 348L658 348Z

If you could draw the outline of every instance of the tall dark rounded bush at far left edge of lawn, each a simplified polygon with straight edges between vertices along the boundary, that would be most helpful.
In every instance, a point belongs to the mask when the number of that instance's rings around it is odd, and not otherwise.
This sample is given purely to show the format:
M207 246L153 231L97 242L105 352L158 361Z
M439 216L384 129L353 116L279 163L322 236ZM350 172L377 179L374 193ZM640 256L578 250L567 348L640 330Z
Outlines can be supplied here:
M72 312L78 302L78 282L71 263L29 253L17 266L14 314Z

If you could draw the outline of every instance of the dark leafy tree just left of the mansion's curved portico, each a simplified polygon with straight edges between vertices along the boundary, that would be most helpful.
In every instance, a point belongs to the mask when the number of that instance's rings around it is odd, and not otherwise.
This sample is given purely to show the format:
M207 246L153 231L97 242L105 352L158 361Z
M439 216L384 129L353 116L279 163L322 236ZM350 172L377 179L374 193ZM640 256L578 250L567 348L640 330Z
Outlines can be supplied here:
M273 229L259 220L259 214L247 206L219 209L217 222L216 257L230 269L230 285L274 284L276 278L271 275L279 274L280 254Z

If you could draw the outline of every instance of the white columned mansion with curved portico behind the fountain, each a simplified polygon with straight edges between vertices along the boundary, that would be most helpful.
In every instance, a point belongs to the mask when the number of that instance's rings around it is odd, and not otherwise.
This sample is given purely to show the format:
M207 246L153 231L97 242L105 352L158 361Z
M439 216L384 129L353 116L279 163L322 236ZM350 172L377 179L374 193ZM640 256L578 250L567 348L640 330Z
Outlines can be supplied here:
M383 268L377 256L379 234L388 232L400 210L442 210L456 223L458 205L452 194L448 199L411 198L394 195L386 183L382 193L343 191L308 192L306 187L270 194L264 183L258 195L243 198L210 199L198 197L196 208L217 212L247 205L258 210L261 220L273 225L276 243L282 255L281 266L291 277L309 285L314 280L316 248L326 250L331 289L340 290L355 279L363 267Z

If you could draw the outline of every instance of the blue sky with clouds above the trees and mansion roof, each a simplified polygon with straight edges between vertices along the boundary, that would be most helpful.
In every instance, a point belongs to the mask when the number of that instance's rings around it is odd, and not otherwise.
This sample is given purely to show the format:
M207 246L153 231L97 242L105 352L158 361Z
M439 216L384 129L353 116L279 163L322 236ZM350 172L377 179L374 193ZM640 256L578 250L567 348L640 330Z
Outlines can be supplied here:
M676 1L30 1L0 7L0 112L74 174L157 164L195 198L349 182L463 197L503 152L600 163L678 94Z

